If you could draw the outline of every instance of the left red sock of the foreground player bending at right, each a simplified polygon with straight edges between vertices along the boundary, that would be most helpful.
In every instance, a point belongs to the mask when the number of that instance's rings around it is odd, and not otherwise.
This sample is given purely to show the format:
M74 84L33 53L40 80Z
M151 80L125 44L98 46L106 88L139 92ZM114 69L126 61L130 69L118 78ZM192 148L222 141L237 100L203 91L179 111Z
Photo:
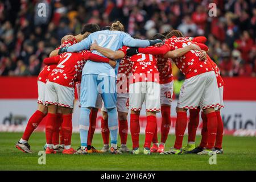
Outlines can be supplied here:
M187 112L177 111L177 119L175 126L175 144L174 148L180 149L182 147L182 141L187 126Z

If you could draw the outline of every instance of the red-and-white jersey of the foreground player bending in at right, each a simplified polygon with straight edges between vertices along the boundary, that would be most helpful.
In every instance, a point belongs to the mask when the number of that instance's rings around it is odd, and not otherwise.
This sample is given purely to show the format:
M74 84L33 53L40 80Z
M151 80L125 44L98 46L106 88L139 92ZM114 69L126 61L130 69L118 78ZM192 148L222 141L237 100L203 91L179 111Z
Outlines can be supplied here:
M173 36L170 39L166 39L165 44L170 46L170 51L174 51L178 48L183 48L192 44L191 40L186 38L176 38ZM177 68L185 75L186 78L191 78L201 73L213 71L212 65L209 61L200 60L200 51L188 51L183 56L174 59L174 63Z

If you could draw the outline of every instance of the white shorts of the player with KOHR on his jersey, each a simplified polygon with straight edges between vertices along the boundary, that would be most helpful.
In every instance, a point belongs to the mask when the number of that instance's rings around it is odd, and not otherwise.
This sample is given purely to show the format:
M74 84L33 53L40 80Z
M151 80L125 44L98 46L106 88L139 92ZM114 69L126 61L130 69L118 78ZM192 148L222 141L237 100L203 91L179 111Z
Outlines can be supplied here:
M133 111L140 111L145 102L146 112L160 111L160 84L157 82L135 82L129 85L129 104Z

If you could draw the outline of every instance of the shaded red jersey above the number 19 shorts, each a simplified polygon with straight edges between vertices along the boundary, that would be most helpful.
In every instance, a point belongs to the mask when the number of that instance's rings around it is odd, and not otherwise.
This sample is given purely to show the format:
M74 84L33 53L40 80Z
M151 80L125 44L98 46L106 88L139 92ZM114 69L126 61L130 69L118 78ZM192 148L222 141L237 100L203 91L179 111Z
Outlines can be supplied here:
M171 59L164 58L162 55L156 56L157 64L159 71L159 83L167 84L174 80L172 76L172 63Z

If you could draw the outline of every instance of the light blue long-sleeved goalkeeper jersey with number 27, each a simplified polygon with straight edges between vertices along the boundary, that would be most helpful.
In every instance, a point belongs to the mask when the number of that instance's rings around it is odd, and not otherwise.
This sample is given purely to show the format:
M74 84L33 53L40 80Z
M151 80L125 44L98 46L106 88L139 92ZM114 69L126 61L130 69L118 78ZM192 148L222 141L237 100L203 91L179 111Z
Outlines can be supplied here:
M90 45L97 42L98 46L112 49L117 51L123 45L129 47L147 47L150 46L148 40L133 39L131 36L125 32L121 31L110 31L103 30L90 34L88 38L82 40L80 43L73 44L68 47L68 52L79 52L84 49L89 49ZM92 51L98 55L100 52L95 50ZM101 55L103 56L103 55ZM109 64L98 63L88 60L82 69L82 75L96 74L115 77L117 75L119 61L117 61L117 66L113 69Z

